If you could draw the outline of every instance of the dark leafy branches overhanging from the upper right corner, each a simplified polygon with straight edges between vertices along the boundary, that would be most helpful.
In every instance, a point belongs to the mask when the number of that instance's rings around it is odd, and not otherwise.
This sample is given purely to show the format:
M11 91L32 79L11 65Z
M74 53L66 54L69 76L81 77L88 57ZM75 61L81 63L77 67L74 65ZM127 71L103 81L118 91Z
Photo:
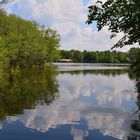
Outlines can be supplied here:
M139 43L140 45L140 1L139 0L107 0L105 3L98 0L95 5L89 6L87 23L97 22L100 31L109 26L111 38L123 32L124 36L114 47L123 47Z

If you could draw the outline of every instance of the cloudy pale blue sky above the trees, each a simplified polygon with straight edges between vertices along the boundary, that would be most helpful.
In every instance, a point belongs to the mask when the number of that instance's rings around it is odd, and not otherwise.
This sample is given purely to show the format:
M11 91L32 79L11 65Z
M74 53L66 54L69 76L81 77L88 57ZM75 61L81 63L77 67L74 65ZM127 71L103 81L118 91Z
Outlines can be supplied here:
M105 0L103 0L105 1ZM110 40L105 27L97 32L96 25L85 24L88 6L96 0L15 0L5 5L8 13L51 27L61 36L61 49L109 50L122 36ZM123 51L129 47L124 47Z

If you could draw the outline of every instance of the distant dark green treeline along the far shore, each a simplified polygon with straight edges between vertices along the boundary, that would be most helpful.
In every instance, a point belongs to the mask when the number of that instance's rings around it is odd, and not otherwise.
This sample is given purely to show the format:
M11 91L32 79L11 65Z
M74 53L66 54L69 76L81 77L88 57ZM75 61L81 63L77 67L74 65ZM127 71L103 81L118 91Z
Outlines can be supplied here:
M131 48L128 52L60 50L60 56L75 63L130 63L139 52L140 48Z

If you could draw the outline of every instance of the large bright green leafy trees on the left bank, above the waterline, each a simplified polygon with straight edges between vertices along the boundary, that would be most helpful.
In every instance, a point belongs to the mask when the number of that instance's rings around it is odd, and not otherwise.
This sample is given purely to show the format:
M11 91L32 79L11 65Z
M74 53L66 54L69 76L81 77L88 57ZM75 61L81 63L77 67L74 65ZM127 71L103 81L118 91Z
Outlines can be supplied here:
M52 29L40 27L0 10L0 60L8 67L40 67L59 57L60 37Z

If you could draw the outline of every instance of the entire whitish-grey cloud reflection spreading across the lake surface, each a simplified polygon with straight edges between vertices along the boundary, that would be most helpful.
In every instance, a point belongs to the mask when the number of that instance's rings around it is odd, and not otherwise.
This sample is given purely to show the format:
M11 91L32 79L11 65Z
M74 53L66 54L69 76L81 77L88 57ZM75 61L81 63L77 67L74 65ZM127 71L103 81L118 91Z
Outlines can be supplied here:
M87 130L72 128L74 140L82 140L88 136L88 130L99 129L103 135L123 139L128 134L129 112L135 107L135 94L124 90L133 90L134 84L127 75L107 77L101 75L68 75L58 76L59 98L49 106L37 106L36 109L25 110L14 120L20 120L26 127L48 131L58 125L78 123L85 120ZM82 97L85 98L82 98ZM124 102L131 102L126 110ZM12 121L12 117L9 121ZM128 125L126 127L126 124ZM127 128L127 129L126 129Z

